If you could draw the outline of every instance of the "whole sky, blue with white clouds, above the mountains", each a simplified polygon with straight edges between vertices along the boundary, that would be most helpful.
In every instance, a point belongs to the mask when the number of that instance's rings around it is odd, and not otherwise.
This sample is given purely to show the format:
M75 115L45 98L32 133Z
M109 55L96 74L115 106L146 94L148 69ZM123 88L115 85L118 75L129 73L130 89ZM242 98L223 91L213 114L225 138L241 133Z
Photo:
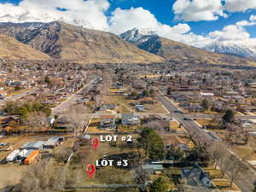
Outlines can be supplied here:
M56 8L68 11L60 13ZM256 38L254 0L0 0L0 18L6 14L15 18L26 11L31 12L30 20L49 21L41 16L44 14L72 24L79 19L88 23L86 27L116 34L133 27L150 28L165 38L198 47L205 46L203 42L249 42Z

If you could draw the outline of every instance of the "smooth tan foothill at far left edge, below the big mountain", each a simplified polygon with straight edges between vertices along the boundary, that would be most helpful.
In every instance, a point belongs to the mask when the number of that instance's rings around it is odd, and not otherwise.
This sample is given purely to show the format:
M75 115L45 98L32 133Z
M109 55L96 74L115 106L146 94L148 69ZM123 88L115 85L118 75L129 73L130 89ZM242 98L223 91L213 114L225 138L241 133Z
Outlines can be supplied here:
M0 34L0 58L8 60L49 60L49 55L26 44L22 44L15 38Z

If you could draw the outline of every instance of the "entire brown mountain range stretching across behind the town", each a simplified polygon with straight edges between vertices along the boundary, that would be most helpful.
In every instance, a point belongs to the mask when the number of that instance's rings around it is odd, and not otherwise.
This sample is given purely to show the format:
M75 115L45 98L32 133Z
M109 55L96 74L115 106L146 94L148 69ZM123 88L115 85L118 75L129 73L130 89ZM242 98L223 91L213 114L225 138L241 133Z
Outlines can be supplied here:
M235 54L213 53L212 48L198 49L161 38L150 29L132 29L120 36L109 32L73 26L62 21L0 23L0 34L12 39L15 46L3 46L2 55L10 59L61 59L81 63L152 63L174 61L191 64L253 65L256 63ZM3 38L4 39L4 38ZM9 41L10 42L10 41ZM24 51L15 51L21 44ZM215 46L217 48L217 46ZM4 52L3 49L6 49ZM30 49L30 50L28 50ZM37 54L34 52L37 51ZM216 52L217 49L214 49ZM13 55L12 55L12 52ZM28 53L33 53L29 55ZM38 56L40 54L40 56ZM34 55L34 56L32 56ZM19 57L17 57L19 56ZM1 57L1 54L0 54ZM253 58L253 56L252 56Z

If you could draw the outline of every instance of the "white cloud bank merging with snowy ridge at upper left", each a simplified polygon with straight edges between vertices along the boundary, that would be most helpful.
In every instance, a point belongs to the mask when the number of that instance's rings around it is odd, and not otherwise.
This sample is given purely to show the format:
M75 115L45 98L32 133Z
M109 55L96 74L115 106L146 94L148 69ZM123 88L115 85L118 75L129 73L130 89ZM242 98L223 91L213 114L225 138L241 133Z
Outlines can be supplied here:
M0 21L64 20L94 29L108 30L108 19L104 15L108 8L108 0L23 0L18 5L0 3Z

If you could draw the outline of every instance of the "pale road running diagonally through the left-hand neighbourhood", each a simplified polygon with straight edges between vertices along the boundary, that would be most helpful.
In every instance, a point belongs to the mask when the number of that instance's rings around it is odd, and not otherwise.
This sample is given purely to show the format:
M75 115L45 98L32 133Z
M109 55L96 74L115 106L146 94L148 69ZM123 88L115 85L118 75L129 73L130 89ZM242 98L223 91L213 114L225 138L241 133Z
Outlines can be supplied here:
M65 112L70 106L76 103L76 101L79 99L78 95L85 89L90 89L95 79L91 79L88 84L86 84L82 89L78 90L76 93L74 93L72 96L67 98L65 102L61 102L60 105L58 105L56 108L52 108L53 114L63 113Z

